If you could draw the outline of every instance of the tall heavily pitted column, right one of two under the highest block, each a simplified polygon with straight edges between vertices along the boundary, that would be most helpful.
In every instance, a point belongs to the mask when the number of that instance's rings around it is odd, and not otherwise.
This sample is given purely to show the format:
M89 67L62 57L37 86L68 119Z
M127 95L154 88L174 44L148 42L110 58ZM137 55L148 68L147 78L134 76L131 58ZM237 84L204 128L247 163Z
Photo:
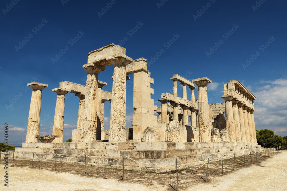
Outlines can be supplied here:
M125 58L113 58L114 79L112 89L112 104L110 108L109 142L126 141L126 65L130 63Z

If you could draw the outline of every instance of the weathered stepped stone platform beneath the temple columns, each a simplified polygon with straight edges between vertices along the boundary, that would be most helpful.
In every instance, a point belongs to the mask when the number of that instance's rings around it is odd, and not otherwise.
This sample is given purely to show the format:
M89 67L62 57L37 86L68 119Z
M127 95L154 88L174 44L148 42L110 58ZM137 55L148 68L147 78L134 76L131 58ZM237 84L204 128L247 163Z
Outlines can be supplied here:
M243 154L243 151L245 151L245 154L249 154L249 152L261 152L261 149L261 146L258 146L257 143L227 142L23 143L22 147L15 148L15 151L19 154L15 152L14 158L32 160L32 153L34 152L42 160L50 159L47 161L55 162L55 157L52 157L55 154L59 154L68 158L58 156L57 162L84 165L85 155L87 155L89 157L86 157L86 165L123 168L122 156L125 155L125 169L127 170L144 170L162 173L176 170L176 157L184 164L179 163L178 168L184 169L186 166L191 167L203 164L209 156L210 159L216 160L222 153L223 158L226 159L234 157L233 152L236 157L239 157ZM92 160L90 157L95 160ZM117 158L119 159L116 160ZM36 157L34 157L34 160L39 161Z

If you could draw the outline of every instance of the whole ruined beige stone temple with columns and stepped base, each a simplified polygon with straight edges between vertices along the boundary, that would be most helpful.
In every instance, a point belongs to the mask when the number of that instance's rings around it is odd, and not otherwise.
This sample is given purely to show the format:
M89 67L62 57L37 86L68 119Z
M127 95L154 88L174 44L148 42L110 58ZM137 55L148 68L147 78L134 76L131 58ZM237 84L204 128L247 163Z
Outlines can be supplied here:
M239 156L243 151L261 151L253 117L256 97L238 80L224 84L222 103L208 104L210 79L202 77L189 81L174 74L170 78L173 92L162 93L158 99L161 106L157 107L150 96L154 93L151 86L154 80L147 70L147 60L133 60L125 53L125 48L114 44L92 51L88 53L88 63L83 65L87 72L86 86L63 81L53 89L57 100L53 134L49 136L39 135L41 95L48 85L28 83L32 87L32 98L26 142L22 148L16 148L20 154L15 153L15 157L32 158L28 153L33 152L42 159L50 159L55 154L82 156L58 160L83 164L88 155L106 161L87 158L88 163L122 168L122 159L113 160L125 155L142 162L127 159L126 169L166 172L175 169L175 161L170 161L175 157L183 164L195 165L203 163L208 156L218 158L222 153L224 158L229 158L233 157L233 152ZM112 92L103 91L107 83L98 79L98 74L105 72L108 65L114 65L114 73L107 74L113 75ZM127 76L130 74L133 74L134 113L131 128L126 128L126 81L130 80ZM183 86L182 98L177 94L177 81ZM68 92L79 97L79 112L77 129L72 131L73 141L63 143L65 94ZM187 100L187 93L191 93L191 100ZM111 102L109 130L104 130L106 101ZM179 168L185 167L179 165Z

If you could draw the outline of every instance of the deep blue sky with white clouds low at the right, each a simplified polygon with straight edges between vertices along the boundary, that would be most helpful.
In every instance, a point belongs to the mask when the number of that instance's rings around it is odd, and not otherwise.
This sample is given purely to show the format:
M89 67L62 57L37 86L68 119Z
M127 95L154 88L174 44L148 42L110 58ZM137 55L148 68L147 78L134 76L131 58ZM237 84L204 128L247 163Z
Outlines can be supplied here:
M172 89L172 74L211 79L210 103L224 102L223 83L237 79L257 97L256 129L287 136L286 5L279 0L1 1L0 142L4 123L9 123L11 143L25 141L31 81L49 85L42 91L40 134L52 134L52 89L61 81L85 85L87 54L111 43L125 47L127 56L151 63L152 98L158 106L160 94ZM112 75L112 66L99 74L108 83L103 90L111 91ZM127 127L133 113L130 77ZM64 141L76 128L78 102L74 94L66 95Z

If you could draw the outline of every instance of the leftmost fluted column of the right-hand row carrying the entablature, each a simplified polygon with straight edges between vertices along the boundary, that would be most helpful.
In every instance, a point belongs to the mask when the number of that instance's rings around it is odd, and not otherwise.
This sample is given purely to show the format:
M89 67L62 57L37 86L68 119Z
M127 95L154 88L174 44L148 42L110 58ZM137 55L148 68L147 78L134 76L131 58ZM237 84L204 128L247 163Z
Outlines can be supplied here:
M233 107L232 107L232 96L222 95L222 99L225 100L225 118L226 118L226 127L228 129L230 142L236 142L236 134L234 127L234 115L233 115Z

